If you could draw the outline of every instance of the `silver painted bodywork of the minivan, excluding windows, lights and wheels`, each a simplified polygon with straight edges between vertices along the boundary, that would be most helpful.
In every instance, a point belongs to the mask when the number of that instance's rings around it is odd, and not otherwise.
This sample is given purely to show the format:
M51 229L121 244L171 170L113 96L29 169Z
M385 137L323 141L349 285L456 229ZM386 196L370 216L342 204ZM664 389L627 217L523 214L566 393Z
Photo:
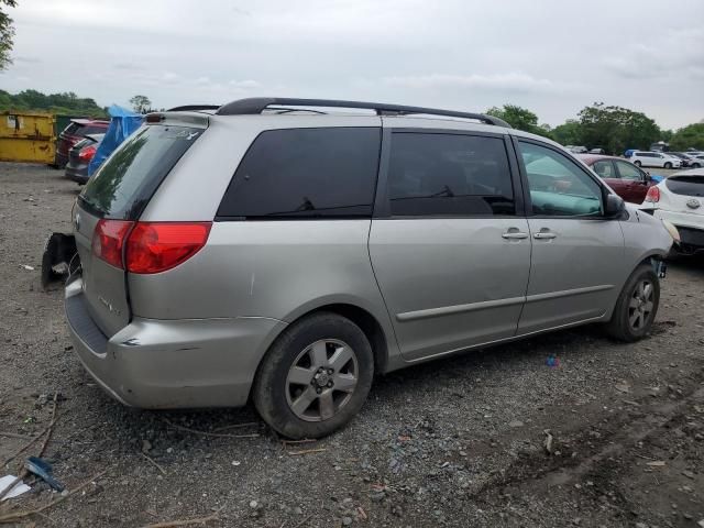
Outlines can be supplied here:
M169 119L208 129L157 188L140 221L212 221L242 156L266 130L458 130L559 146L513 129L424 117L179 113ZM136 275L91 258L98 219L76 211L82 278L66 288L67 311L76 300L68 299L81 296L98 329L91 331L107 340L105 351L91 349L69 314L76 350L113 396L151 408L243 405L271 343L289 323L324 307L352 306L374 318L385 340L385 371L605 320L638 263L663 256L672 243L659 220L631 208L623 220L215 219L195 256L164 273ZM558 237L534 239L544 227ZM527 237L505 239L509 230Z

